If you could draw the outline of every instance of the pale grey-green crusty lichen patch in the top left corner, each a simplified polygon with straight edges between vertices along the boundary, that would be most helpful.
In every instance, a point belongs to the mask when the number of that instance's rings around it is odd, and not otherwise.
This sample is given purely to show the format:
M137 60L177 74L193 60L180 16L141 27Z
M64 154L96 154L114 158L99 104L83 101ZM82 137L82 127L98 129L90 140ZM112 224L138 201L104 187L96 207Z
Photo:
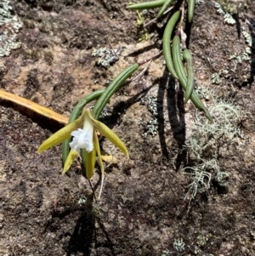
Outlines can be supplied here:
M17 33L22 27L20 19L11 13L12 7L10 1L3 0L0 3L0 57L8 56L11 50L19 48L20 43L17 42Z

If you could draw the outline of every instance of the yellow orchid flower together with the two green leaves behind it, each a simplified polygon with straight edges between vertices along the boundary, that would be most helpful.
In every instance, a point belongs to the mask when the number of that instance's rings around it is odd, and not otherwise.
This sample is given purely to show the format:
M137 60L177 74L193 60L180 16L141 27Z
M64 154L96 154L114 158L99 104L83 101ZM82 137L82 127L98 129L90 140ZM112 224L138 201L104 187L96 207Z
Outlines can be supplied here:
M122 71L122 73L117 76L113 82L111 82L108 88L89 94L87 97L81 100L71 113L71 117L69 118L70 123L66 125L65 128L61 128L58 132L46 139L37 151L42 152L48 150L54 145L64 142L62 151L64 163L63 174L69 170L71 163L75 160L77 155L80 154L82 157L82 163L85 163L84 168L86 170L87 179L91 179L94 174L95 160L96 156L98 156L99 167L102 174L99 198L103 188L105 168L99 147L98 135L96 132L98 131L100 134L109 139L111 143L116 145L116 147L119 148L127 157L128 151L122 140L119 139L118 136L113 133L111 129L108 128L104 123L99 122L96 119L99 119L101 111L104 109L111 96L138 68L138 64L128 66L127 69ZM94 105L93 112L91 112L89 109L82 111L84 105L97 98L99 98L99 100ZM82 115L80 116L81 113ZM73 137L72 141L71 136Z

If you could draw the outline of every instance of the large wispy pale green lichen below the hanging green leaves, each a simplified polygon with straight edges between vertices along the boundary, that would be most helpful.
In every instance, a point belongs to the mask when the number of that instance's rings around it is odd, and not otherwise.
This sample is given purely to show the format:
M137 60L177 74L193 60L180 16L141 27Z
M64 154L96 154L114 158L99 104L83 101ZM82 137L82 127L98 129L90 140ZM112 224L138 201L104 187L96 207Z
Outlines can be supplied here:
M229 174L219 166L219 145L230 145L233 139L241 136L240 123L246 117L241 107L218 98L216 91L202 89L202 93L210 95L211 105L208 111L213 122L204 121L200 113L196 112L195 128L186 139L186 151L191 165L183 168L184 174L189 174L190 185L185 198L194 199L197 192L207 191L212 177L222 182Z

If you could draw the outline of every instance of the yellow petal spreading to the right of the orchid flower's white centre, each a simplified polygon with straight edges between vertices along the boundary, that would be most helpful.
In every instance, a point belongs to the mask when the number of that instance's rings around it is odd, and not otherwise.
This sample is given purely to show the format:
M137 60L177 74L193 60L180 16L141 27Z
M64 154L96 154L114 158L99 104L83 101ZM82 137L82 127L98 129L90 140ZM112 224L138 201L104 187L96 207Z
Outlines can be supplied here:
M99 133L104 135L107 139L111 141L112 144L116 145L125 156L128 157L128 151L122 140L110 129L108 128L103 122L99 122L92 117L91 112L87 112L88 116L91 118L91 121L94 124L94 128L99 130Z

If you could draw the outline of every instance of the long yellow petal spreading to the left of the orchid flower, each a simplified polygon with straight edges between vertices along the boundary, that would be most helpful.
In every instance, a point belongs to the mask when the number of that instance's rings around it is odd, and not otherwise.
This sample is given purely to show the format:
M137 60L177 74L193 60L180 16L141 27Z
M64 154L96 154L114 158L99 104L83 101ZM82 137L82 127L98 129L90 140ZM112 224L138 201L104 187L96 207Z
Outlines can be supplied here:
M57 145L63 142L65 139L71 137L71 132L77 130L77 128L81 128L83 124L83 117L79 117L74 122L66 125L64 128L61 128L55 134L51 135L48 139L46 139L42 145L37 150L37 153L48 150L50 147Z

